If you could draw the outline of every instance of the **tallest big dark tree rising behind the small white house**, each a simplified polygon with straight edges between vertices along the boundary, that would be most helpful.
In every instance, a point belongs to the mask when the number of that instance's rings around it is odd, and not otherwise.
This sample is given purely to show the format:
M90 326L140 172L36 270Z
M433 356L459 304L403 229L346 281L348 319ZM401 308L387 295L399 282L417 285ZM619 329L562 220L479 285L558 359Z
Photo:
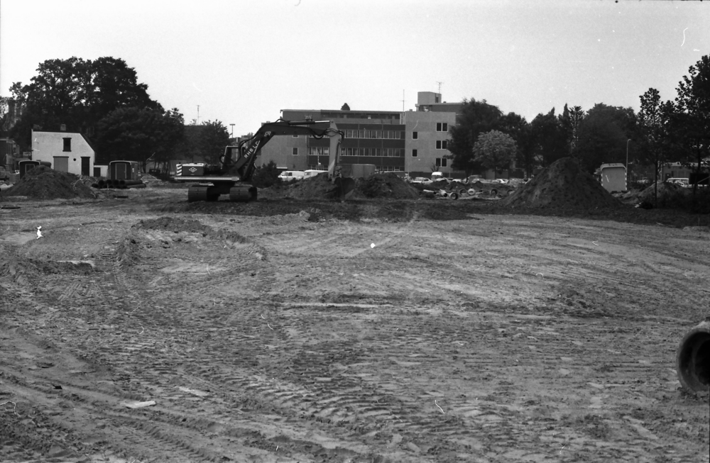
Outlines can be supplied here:
M83 60L46 60L31 84L13 83L13 99L23 105L21 120L11 130L23 150L28 150L31 129L67 130L93 135L97 123L118 108L137 107L163 111L139 84L135 69L124 60L101 57Z

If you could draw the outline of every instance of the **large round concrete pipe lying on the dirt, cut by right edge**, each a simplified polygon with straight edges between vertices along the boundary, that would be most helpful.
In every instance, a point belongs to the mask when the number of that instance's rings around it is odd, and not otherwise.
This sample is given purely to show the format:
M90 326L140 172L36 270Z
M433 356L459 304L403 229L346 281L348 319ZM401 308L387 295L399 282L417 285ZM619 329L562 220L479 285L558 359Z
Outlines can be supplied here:
M675 363L684 389L690 392L710 389L710 317L685 333Z

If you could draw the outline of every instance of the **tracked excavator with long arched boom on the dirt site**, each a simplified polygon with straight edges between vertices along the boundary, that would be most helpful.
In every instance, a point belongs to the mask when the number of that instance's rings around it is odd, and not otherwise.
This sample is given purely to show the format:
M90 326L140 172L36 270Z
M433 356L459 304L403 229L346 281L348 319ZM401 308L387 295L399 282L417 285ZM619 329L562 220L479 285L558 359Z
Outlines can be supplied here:
M342 130L332 121L285 121L278 119L261 125L257 132L239 145L227 146L217 168L185 168L175 176L177 182L196 182L187 189L187 201L218 201L219 196L229 194L230 201L256 201L256 186L251 184L256 153L275 135L307 135L313 138L330 138L328 179L333 184L329 197L345 201L355 189L355 181L343 177L338 157Z

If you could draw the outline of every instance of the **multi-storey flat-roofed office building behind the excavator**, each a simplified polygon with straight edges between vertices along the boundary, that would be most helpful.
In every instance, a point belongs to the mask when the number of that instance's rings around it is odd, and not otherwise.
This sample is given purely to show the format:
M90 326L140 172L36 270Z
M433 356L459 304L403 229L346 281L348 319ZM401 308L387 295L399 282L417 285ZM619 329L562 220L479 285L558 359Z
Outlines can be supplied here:
M405 172L412 177L435 170L453 174L447 159L449 127L456 123L460 103L441 102L441 95L422 91L417 111L351 111L282 109L287 121L311 118L334 121L345 138L342 164L374 164L380 172ZM259 165L274 161L280 169L327 169L329 140L293 135L274 137L261 150Z

